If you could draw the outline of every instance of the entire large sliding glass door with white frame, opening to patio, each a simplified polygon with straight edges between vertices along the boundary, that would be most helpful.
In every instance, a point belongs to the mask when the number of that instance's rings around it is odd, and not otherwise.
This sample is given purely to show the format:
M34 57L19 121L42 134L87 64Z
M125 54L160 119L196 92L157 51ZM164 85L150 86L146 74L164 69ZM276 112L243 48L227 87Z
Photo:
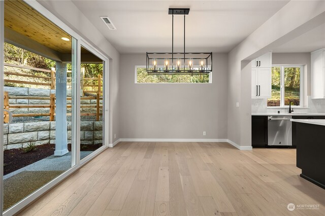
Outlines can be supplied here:
M0 197L12 215L108 147L108 58L36 1L0 6Z

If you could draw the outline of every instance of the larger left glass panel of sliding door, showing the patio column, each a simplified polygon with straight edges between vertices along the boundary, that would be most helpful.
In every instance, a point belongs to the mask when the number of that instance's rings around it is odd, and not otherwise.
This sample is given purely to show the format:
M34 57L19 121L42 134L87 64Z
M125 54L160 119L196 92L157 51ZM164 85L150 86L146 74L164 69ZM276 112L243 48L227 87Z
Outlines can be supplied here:
M24 2L4 4L6 210L72 166L76 41Z

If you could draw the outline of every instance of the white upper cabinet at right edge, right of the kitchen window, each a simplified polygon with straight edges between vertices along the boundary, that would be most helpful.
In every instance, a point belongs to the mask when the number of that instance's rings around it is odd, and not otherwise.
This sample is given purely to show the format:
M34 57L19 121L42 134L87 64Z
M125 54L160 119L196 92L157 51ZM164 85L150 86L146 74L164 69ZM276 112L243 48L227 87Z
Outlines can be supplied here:
M325 48L311 53L311 98L325 98Z

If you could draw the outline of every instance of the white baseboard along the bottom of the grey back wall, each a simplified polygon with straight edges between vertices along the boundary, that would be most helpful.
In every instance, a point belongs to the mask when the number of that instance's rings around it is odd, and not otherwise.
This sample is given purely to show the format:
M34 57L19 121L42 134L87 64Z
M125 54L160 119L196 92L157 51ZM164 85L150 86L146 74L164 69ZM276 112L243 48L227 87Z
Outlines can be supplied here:
M154 139L154 138L120 138L108 147L114 147L118 142L228 142L230 145L239 150L252 150L251 146L239 146L237 143L230 139Z

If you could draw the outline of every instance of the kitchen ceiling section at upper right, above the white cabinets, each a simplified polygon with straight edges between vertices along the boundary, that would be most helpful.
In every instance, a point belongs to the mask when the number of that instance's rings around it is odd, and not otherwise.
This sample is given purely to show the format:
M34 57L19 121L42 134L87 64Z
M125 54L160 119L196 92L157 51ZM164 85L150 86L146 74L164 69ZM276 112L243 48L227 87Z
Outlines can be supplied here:
M324 21L325 22L325 21ZM285 43L272 51L275 53L313 52L325 47L325 24L307 31L299 37Z

